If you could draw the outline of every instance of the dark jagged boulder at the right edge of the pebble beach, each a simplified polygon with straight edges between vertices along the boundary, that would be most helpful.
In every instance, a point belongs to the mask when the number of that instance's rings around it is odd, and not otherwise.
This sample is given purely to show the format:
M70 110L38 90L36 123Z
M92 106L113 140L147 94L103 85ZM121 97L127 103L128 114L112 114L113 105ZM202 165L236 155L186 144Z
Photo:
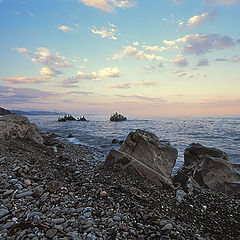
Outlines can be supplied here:
M240 174L228 161L226 153L192 143L184 153L184 165L174 176L174 182L187 188L193 184L228 195L240 192Z

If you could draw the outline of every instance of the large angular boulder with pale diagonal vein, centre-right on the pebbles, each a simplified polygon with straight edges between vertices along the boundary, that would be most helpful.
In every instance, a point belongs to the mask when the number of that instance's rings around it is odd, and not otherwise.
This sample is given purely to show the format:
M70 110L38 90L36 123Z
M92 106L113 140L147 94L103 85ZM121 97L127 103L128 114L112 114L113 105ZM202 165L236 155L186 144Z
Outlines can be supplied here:
M160 186L172 186L171 173L177 155L177 149L169 142L138 129L129 133L119 151L109 152L105 166L137 172Z

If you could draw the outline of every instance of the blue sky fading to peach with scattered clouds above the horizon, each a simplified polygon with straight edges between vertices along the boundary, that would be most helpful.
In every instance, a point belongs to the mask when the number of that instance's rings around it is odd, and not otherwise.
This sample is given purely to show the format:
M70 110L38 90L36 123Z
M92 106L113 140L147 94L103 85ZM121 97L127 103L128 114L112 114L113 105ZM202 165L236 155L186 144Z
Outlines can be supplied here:
M240 0L0 0L0 106L240 115Z

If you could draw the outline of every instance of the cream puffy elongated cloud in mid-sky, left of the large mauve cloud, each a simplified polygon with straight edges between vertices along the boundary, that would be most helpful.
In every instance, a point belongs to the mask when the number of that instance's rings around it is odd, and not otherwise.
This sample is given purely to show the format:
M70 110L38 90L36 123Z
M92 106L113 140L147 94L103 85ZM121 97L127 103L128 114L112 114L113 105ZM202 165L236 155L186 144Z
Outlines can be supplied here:
M122 59L123 57L130 57L137 60L148 60L148 61L163 61L165 60L163 57L155 55L155 54L146 54L144 51L138 51L136 47L133 46L125 46L123 50L115 54L112 59Z

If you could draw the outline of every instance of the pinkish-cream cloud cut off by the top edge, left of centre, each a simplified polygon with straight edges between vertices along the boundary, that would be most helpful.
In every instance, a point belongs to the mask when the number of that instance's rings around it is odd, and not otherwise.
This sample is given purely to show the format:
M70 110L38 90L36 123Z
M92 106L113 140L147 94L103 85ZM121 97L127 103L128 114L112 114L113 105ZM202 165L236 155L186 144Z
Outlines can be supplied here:
M106 12L114 12L118 8L133 7L137 0L78 0L87 6L98 8Z

